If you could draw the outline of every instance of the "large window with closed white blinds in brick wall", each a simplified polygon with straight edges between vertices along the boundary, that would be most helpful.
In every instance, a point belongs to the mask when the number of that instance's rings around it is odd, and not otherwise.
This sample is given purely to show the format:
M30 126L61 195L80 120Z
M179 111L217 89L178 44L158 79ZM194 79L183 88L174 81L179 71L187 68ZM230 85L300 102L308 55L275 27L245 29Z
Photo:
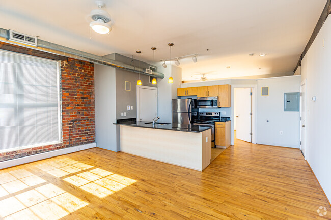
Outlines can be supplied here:
M59 64L0 50L0 152L61 142Z

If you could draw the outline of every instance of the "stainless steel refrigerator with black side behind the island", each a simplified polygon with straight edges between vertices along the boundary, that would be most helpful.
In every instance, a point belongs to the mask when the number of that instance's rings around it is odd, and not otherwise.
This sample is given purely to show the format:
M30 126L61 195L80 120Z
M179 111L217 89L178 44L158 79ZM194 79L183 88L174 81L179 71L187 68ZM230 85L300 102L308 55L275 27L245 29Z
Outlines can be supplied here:
M192 124L192 99L172 99L172 123L174 127ZM186 126L187 127L187 126Z

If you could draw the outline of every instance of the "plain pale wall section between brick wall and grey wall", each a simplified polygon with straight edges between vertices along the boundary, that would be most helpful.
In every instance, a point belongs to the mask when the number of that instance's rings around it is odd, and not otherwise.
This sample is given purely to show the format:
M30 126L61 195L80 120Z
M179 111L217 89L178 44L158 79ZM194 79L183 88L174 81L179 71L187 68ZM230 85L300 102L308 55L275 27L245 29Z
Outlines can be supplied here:
M95 138L97 147L118 151L116 144L115 68L94 65Z

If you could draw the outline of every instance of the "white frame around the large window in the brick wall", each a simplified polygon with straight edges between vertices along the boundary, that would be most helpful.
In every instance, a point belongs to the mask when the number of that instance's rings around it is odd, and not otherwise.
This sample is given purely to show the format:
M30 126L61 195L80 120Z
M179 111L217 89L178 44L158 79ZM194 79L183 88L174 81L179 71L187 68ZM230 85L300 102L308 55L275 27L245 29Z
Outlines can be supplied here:
M26 55L26 54L22 54L22 53L7 51L7 50L0 50L0 51L7 52L7 53L12 53L12 54L16 54L16 55L20 55L20 56L33 57L33 58L36 58L36 59L53 61L53 62L55 62L57 64L57 93L58 93L58 115L59 115L59 117L58 117L59 141L51 141L51 142L46 142L46 143L41 143L41 144L33 144L33 145L27 145L27 146L21 146L21 147L14 147L14 148L9 148L9 149L3 149L3 150L0 150L0 153L12 152L12 151L23 150L23 149L28 149L28 148L41 147L41 146L48 146L48 145L63 143L63 139L62 139L62 96L61 96L62 91L61 91L61 69L60 69L60 61L46 59L46 58L41 58L41 57L37 57L37 56Z

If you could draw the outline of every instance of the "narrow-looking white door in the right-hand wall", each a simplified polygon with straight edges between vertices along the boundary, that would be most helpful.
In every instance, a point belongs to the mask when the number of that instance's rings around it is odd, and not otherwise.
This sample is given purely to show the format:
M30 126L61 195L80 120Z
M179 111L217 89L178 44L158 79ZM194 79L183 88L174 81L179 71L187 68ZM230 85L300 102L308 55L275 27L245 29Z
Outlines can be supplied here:
M300 88L300 149L306 159L306 83Z

